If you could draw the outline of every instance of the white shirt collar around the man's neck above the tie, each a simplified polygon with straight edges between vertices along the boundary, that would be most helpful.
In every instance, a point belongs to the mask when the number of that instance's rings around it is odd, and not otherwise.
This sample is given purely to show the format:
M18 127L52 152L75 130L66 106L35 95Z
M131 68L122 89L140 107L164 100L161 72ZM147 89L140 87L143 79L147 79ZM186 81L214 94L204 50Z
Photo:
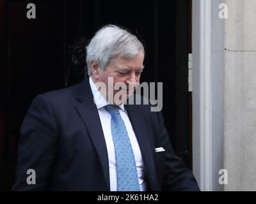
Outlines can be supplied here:
M94 84L92 77L89 77L89 82L90 82L90 87L92 89L92 94L93 94L93 99L94 99L94 103L97 106L97 109L99 110L100 108L109 105L108 101L106 100L106 98L104 98L104 96L102 96L102 94L100 94L100 92L98 91L96 85ZM119 108L121 108L122 111L124 111L124 103L119 105Z

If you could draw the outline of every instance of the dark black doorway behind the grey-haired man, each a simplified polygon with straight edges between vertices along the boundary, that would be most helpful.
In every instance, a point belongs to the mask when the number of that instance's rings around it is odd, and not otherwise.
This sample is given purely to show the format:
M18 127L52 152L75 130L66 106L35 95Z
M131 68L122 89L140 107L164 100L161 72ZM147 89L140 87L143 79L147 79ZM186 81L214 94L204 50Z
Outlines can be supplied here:
M191 168L191 1L41 0L33 1L35 19L26 17L28 3L5 0L0 4L0 189L13 185L19 129L31 101L42 92L83 79L83 67L72 68L70 45L82 36L89 40L106 24L126 27L143 41L146 58L141 82L163 82L166 129L175 152ZM67 80L70 76L72 80Z

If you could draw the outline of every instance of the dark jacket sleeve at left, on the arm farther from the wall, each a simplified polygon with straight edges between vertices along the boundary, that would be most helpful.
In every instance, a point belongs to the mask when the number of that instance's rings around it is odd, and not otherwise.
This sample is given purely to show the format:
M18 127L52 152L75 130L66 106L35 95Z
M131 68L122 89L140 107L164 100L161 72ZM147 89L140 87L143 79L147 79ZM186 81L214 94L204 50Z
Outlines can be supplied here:
M44 96L32 102L20 128L16 180L12 191L45 191L56 156L58 133L52 108ZM28 170L35 170L35 184ZM28 174L27 174L28 171Z

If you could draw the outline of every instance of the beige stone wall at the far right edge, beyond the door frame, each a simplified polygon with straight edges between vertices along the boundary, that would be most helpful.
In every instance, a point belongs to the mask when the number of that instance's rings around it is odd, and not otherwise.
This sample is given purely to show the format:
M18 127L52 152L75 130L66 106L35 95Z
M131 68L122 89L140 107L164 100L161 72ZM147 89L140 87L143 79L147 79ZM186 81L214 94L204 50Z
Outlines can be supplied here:
M256 1L227 0L225 191L256 191Z

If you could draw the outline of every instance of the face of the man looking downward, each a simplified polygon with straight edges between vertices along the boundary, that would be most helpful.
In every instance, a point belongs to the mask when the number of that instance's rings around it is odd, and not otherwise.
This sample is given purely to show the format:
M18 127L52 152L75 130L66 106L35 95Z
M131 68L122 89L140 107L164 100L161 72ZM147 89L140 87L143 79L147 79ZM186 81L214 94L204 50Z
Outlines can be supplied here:
M105 71L100 69L99 66L98 68L94 66L97 69L93 69L92 66L93 82L96 86L97 82L103 82L106 85L106 93L104 91L102 94L108 99L109 103L109 98L113 98L114 104L119 105L131 96L140 82L140 75L144 68L143 60L144 54L140 52L131 59L116 57L106 67Z

